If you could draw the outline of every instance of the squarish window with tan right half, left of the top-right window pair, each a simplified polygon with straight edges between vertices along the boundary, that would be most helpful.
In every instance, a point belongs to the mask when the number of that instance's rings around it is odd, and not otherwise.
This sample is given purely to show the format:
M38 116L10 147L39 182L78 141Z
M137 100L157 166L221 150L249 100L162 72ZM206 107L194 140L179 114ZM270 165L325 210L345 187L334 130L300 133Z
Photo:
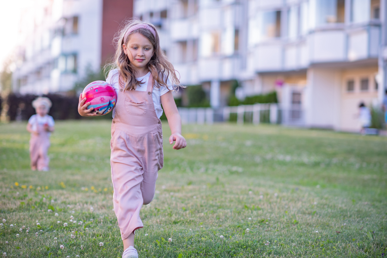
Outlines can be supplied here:
M281 36L281 11L262 13L262 39L279 38Z

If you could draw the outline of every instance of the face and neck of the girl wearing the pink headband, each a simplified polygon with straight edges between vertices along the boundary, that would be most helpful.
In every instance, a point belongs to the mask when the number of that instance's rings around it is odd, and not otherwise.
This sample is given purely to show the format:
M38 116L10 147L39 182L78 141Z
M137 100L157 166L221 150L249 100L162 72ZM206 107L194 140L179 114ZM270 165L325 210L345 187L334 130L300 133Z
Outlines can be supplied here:
M154 53L151 41L140 33L134 33L130 35L128 43L123 44L122 47L130 63L137 68L139 72L137 76L144 76L144 73L147 72L147 63Z

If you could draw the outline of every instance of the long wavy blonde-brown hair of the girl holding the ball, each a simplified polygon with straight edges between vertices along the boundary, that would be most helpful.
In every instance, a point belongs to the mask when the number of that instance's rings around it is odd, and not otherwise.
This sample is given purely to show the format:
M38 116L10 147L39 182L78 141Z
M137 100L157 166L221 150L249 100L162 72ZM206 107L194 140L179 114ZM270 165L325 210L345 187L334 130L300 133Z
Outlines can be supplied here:
M156 37L152 34L152 32L145 28L135 29L130 32L129 35L125 38L125 33L132 26L137 24L147 24L151 26L156 32ZM160 88L161 86L167 87L167 80L170 79L174 88L177 88L180 85L180 81L176 76L175 69L171 62L168 61L163 50L160 48L160 39L159 34L156 31L156 28L147 22L142 22L139 19L130 19L127 20L120 31L116 34L114 43L116 44L116 53L114 55L113 63L108 64L109 70L118 69L119 71L119 83L124 86L125 90L135 90L137 85L140 85L139 80L136 79L135 68L130 63L128 56L123 51L123 44L127 44L129 38L134 33L140 33L142 36L146 37L151 41L154 54L151 57L151 60L147 63L147 67L149 71L152 73L152 85L156 88Z

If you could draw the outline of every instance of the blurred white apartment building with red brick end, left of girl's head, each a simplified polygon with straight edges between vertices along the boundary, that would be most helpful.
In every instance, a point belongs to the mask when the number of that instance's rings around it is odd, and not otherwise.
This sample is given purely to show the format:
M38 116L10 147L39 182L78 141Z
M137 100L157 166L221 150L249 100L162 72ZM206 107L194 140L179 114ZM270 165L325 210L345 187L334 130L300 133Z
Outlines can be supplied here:
M118 26L132 17L132 0L37 0L23 10L13 88L21 94L66 92L99 72L114 54Z

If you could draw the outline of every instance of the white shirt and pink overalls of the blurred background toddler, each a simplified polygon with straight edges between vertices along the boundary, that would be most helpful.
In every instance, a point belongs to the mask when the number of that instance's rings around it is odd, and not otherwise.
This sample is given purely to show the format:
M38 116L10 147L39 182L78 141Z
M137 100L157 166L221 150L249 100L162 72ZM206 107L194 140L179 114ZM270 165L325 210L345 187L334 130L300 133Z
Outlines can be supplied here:
M44 124L54 126L54 120L51 116L38 117L37 114L31 116L28 120L31 123L32 129L39 134L31 133L31 140L29 141L29 155L31 158L31 167L36 167L38 170L48 170L48 148L50 148L50 132L44 129Z

